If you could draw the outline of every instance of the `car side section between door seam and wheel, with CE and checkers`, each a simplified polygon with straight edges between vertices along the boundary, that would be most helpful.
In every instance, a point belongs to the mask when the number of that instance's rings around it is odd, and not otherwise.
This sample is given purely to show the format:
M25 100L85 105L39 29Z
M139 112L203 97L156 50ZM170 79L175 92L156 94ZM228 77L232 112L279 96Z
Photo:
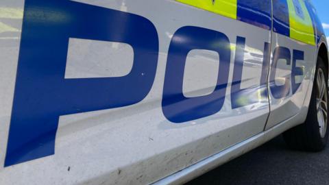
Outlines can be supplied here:
M313 16L303 0L273 0L273 34L267 129L303 108L317 58ZM306 103L307 104L307 103Z

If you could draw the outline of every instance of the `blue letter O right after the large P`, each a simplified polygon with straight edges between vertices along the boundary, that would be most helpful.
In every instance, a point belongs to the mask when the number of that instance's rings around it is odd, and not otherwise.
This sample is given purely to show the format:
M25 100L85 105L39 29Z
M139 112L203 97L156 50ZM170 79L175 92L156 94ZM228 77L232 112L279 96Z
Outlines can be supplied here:
M193 49L216 51L221 56L217 84L210 95L201 97L183 95L184 66L188 52ZM164 116L173 123L182 123L219 112L228 86L230 56L230 40L225 34L202 27L188 26L178 29L171 39L164 77L162 97Z

